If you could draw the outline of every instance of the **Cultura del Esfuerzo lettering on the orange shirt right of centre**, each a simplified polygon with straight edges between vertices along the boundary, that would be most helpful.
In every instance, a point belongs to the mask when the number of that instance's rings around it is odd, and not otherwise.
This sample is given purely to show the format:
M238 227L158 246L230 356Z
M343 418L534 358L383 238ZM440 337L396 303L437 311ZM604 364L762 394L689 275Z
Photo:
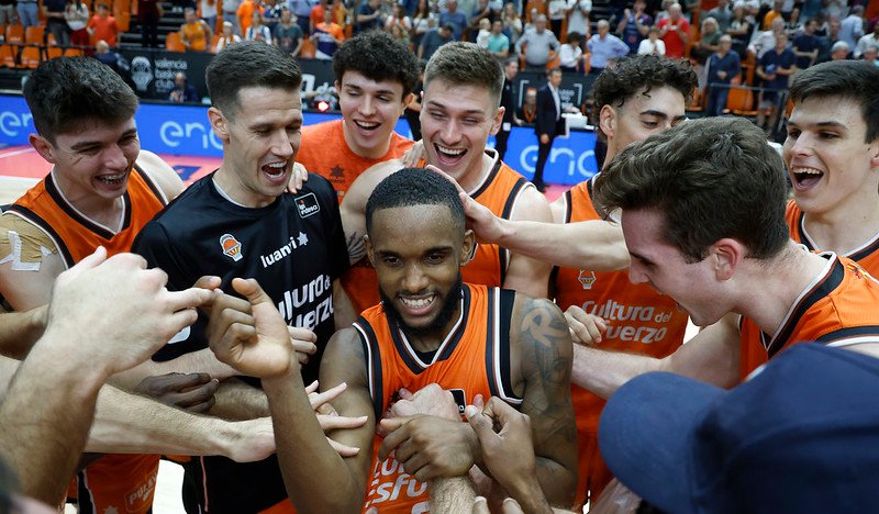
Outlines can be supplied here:
M593 301L582 304L583 311L600 316L608 323L604 340L619 339L634 343L659 343L668 335L664 325L671 321L671 311L657 311L652 305L625 305L608 300L601 305ZM619 323L630 322L630 324ZM650 326L653 325L653 326Z

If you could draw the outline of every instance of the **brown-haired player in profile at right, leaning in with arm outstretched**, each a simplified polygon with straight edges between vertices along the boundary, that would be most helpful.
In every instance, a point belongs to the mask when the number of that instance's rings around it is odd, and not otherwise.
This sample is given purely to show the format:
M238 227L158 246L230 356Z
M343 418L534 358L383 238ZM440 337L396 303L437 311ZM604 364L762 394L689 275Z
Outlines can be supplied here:
M801 340L874 351L864 343L879 335L879 282L850 259L789 239L783 164L746 120L692 120L636 143L602 172L596 194L622 209L631 280L711 326L663 359L583 348L575 372L593 392L608 396L652 370L732 387L746 345L769 358Z

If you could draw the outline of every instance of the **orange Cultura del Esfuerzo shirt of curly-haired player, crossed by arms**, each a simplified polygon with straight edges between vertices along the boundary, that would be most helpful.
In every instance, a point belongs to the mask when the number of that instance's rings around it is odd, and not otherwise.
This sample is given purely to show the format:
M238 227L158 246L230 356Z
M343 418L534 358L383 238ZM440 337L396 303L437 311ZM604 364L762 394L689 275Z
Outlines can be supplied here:
M568 190L565 201L565 223L601 220L592 204L592 179ZM578 305L608 323L602 349L663 358L683 343L687 313L679 311L670 297L657 293L648 284L632 283L627 269L601 272L557 268L553 275L556 303L563 311ZM594 504L613 478L598 451L598 420L605 401L574 384L571 399L579 442L577 502L582 503L589 491Z

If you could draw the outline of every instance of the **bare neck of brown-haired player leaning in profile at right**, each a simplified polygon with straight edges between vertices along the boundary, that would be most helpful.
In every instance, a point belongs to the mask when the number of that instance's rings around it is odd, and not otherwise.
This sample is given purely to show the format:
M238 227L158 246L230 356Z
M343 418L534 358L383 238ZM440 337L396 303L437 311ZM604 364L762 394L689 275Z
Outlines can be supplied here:
M793 303L826 272L832 261L790 242L769 260L742 262L743 293L735 312L754 321L767 334L775 334Z

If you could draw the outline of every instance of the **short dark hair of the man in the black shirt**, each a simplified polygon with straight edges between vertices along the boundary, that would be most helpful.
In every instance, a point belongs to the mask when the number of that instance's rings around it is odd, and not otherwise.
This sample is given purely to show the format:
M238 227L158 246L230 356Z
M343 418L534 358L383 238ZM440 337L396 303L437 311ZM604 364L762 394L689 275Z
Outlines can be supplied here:
M238 91L272 88L298 91L302 71L290 54L260 41L233 43L216 54L205 72L211 103L233 118L238 110Z

